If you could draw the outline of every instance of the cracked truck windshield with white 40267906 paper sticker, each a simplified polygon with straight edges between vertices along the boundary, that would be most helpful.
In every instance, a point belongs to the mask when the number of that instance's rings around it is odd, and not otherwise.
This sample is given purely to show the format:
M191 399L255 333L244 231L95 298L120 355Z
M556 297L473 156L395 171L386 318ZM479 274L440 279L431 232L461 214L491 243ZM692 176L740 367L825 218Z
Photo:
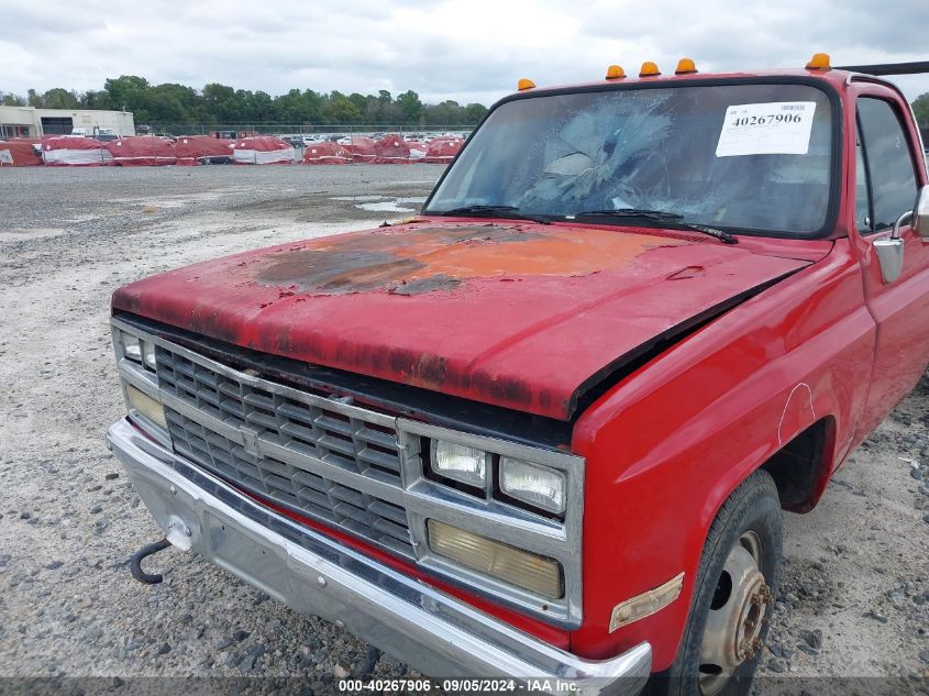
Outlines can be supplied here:
M623 211L637 224L814 233L826 224L831 132L828 97L799 84L521 98L490 114L427 212L619 223Z

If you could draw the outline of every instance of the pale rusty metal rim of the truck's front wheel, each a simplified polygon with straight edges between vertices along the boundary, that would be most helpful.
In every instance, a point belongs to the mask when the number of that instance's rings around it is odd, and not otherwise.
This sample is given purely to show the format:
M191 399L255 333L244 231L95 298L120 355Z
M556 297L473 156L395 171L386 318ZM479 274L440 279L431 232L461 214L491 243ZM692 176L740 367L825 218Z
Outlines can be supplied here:
M704 696L722 691L736 671L761 649L771 588L761 572L761 540L743 533L717 579L700 644L699 686Z

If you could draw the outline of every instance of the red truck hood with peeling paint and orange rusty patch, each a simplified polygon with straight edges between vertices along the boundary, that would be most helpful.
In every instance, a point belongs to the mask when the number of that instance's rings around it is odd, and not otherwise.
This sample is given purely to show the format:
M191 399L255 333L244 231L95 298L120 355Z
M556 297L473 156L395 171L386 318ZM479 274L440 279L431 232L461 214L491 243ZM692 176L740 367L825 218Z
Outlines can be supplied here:
M664 230L419 221L208 261L113 309L568 420L659 341L810 261Z

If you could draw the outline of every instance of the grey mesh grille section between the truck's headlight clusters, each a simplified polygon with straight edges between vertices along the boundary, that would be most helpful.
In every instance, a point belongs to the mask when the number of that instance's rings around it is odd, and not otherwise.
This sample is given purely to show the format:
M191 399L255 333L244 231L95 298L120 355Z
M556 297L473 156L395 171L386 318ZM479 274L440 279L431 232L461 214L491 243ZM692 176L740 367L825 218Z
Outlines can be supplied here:
M376 413L264 380L262 388L161 346L156 361L178 454L307 517L414 557L399 505L392 419L374 422Z

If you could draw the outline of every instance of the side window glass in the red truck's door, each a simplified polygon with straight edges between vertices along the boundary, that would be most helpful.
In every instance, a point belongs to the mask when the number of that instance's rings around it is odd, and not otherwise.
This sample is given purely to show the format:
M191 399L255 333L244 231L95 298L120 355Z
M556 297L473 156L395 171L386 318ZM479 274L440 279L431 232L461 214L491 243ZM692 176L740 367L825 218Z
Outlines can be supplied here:
M859 121L871 176L873 229L891 228L916 201L909 140L889 102L859 99Z

